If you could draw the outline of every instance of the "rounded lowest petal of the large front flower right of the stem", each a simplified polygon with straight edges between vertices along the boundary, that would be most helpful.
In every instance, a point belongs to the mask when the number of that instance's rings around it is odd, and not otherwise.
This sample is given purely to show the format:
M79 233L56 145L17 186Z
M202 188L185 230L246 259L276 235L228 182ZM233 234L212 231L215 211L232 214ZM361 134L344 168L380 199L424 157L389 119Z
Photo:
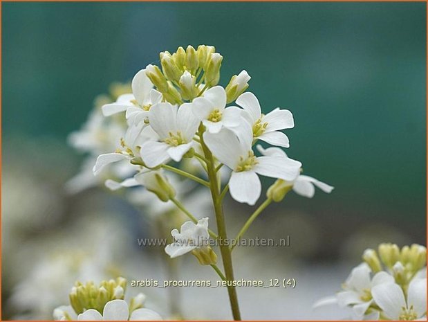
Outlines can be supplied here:
M252 206L260 197L260 179L254 171L232 172L229 189L230 195L237 202L245 202Z

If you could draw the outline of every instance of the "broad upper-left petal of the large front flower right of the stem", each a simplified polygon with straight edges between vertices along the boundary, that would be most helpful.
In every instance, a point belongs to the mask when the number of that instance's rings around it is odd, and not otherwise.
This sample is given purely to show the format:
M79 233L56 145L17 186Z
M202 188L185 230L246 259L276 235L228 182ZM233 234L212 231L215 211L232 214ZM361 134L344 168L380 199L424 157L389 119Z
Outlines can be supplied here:
M217 134L205 132L203 139L212 154L232 170L238 165L239 157L248 154L247 151L243 150L241 142L230 129L223 128Z

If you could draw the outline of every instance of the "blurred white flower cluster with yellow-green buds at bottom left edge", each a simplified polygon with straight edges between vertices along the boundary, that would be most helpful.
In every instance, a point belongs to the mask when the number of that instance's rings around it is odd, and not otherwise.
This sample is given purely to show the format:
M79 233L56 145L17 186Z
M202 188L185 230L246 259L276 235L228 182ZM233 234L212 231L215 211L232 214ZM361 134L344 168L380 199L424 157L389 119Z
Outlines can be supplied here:
M126 280L103 280L99 286L93 282L77 282L69 295L70 305L57 307L55 320L61 321L153 321L161 316L144 306L145 295L140 293L131 298L129 305L124 301Z

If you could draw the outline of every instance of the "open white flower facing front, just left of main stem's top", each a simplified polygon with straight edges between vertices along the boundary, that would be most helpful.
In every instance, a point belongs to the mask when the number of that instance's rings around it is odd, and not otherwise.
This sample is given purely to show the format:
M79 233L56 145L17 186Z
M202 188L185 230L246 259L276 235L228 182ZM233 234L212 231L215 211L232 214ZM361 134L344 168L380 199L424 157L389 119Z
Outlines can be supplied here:
M158 134L158 141L148 141L141 146L142 160L149 168L169 159L180 161L192 148L199 125L199 120L192 113L192 104L177 107L168 102L158 103L151 107L149 119L150 127Z

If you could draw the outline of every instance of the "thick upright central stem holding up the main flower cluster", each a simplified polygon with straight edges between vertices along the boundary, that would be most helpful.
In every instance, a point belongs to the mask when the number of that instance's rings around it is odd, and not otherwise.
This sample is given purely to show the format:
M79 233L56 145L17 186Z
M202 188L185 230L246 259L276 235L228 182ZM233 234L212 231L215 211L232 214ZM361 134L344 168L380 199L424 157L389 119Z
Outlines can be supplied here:
M201 146L205 154L205 159L207 159L207 170L208 178L210 179L210 190L212 202L214 204L214 213L216 214L216 222L218 229L219 237L219 247L221 252L221 258L223 259L223 267L225 270L225 278L228 281L234 280L233 275L233 265L232 265L232 254L230 248L227 246L225 241L227 241L227 230L225 217L223 214L222 202L220 199L220 191L218 189L218 180L216 169L214 166L214 157L210 149L203 141L203 125L199 127L199 138L201 138ZM236 288L234 286L227 286L227 292L229 294L230 306L232 307L232 315L234 320L241 320L241 313L239 312L238 296L236 295Z

